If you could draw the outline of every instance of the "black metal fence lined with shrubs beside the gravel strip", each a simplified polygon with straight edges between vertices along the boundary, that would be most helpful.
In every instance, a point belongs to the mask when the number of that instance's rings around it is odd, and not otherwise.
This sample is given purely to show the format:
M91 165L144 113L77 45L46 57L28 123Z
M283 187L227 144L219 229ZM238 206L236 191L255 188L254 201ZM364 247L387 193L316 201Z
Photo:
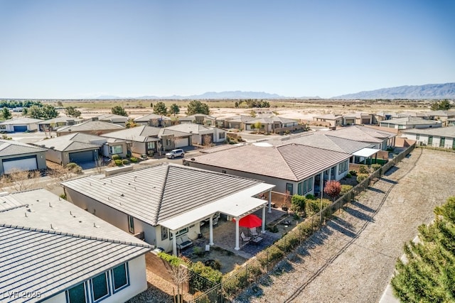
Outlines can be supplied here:
M377 182L380 177L390 170L391 167L405 158L412 150L415 144L404 150L395 158L390 159L385 165L370 174L368 178L350 189L349 192L340 197L331 205L326 206L317 214L307 218L301 224L285 234L281 239L276 241L272 246L269 246L255 257L247 260L242 265L242 268L229 272L223 277L223 281L219 285L215 285L206 290L203 294L194 297L192 303L222 303L231 302L238 294L243 292L247 287L258 282L262 275L267 275L277 263L283 260L287 253L300 246L306 238L318 231L326 220L331 220L334 212L341 209L345 204L351 202L355 196L370 187L371 184Z

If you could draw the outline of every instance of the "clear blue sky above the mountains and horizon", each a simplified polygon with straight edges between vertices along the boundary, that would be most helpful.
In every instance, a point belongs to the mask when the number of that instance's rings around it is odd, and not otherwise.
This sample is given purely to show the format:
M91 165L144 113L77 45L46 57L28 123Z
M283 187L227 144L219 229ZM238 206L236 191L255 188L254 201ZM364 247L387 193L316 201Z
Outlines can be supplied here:
M0 98L455 82L455 1L0 0Z

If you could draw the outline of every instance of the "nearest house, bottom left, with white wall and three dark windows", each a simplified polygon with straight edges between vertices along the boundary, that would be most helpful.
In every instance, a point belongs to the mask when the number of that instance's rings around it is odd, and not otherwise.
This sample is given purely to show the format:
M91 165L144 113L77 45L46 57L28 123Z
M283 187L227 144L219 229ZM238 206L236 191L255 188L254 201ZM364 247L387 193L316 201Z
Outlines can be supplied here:
M45 189L2 193L1 302L125 302L147 288L147 243Z

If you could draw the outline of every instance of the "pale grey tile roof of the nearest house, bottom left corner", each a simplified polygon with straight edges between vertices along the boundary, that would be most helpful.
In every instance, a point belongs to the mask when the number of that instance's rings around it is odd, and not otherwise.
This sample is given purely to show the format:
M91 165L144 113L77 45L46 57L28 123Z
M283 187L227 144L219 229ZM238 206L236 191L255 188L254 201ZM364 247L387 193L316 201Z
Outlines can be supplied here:
M41 297L28 301L38 302L151 250L45 189L0 196L4 199L23 205L0 210L4 298L8 292L39 292Z

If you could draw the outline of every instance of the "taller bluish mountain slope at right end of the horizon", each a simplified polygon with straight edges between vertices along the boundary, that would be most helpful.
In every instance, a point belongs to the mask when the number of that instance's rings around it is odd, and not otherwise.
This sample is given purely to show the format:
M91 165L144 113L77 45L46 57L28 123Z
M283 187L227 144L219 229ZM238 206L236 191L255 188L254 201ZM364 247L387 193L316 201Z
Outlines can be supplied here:
M455 99L455 83L405 85L343 94L332 99Z

